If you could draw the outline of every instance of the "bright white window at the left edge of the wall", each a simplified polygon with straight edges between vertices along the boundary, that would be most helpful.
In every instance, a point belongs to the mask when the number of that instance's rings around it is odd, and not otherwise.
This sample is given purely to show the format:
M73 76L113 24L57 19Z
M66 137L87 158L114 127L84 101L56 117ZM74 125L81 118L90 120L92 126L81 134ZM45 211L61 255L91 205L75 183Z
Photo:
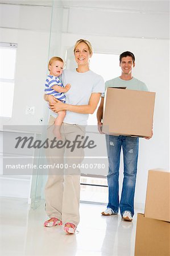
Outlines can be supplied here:
M0 43L0 117L12 117L17 44Z

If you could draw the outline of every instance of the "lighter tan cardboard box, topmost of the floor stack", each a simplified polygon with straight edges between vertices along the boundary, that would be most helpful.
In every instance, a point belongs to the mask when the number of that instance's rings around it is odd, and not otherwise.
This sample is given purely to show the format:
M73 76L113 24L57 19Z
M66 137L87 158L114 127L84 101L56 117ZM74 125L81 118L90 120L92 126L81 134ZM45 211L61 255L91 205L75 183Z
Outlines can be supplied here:
M161 169L148 171L144 216L170 222L169 171Z

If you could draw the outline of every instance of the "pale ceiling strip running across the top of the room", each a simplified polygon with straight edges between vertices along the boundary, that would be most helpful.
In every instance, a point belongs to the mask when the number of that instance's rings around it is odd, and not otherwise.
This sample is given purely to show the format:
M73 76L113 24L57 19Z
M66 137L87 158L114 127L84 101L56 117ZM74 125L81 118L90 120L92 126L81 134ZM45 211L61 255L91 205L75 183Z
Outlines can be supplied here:
M135 1L65 1L65 0L0 0L0 3L15 4L15 5L35 5L35 6L52 6L55 5L64 7L84 7L94 9L108 9L117 11L139 11L146 13L169 13L169 1L155 1L155 0L135 0Z

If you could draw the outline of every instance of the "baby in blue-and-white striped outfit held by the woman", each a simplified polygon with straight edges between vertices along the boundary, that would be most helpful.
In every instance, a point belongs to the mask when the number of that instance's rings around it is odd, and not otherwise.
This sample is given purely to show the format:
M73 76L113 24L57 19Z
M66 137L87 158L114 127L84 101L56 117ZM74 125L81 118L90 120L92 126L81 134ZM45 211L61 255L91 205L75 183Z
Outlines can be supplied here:
M65 103L65 92L71 88L70 84L64 85L59 79L59 76L63 72L64 61L60 57L52 57L48 63L49 75L45 81L45 94L52 95L57 100L60 100ZM55 100L51 101L55 103ZM63 123L65 117L65 110L57 112L57 117L55 119L55 129L53 133L55 134L57 139L61 139L60 127Z

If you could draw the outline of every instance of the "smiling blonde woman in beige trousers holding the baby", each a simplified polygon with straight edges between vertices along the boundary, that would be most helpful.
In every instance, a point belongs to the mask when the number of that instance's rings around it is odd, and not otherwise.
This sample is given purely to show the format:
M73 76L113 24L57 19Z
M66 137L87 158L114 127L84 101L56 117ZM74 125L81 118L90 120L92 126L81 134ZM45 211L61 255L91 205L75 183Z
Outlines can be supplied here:
M46 96L49 106L53 112L67 110L66 117L61 126L63 141L73 141L76 135L84 137L88 115L93 114L97 108L101 93L104 92L103 78L90 71L89 60L92 57L93 49L87 40L80 39L74 46L74 57L77 62L77 68L73 71L64 70L62 81L64 86L71 84L71 89L65 93L66 103L56 100L51 103L51 97ZM51 113L49 125L55 121L54 113ZM83 150L79 148L71 152L69 148L60 148L51 152L51 162L55 160L57 154L57 163L64 163L64 154L68 156L69 171L66 170L65 176L62 170L57 170L57 175L49 175L45 186L46 212L50 219L44 222L44 226L55 226L64 224L64 232L75 233L80 221L80 170L73 170L73 164L81 163L83 159ZM59 165L61 166L61 165ZM60 171L60 175L59 175ZM64 184L64 185L63 185Z

